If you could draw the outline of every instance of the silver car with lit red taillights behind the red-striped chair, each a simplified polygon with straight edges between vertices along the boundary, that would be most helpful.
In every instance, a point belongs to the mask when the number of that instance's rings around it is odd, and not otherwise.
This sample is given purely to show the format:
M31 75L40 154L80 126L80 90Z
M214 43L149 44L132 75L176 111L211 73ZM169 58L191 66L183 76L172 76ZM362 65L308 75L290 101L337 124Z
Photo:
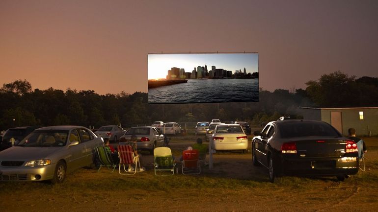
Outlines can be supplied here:
M137 148L149 150L151 154L156 147L164 146L164 135L156 127L132 127L119 139L119 142L130 140L132 135L138 139Z

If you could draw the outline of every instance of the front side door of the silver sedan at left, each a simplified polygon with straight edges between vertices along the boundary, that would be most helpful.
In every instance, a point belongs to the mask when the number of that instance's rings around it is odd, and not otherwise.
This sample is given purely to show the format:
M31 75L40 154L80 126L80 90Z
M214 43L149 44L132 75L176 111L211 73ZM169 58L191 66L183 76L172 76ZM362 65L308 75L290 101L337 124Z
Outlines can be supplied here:
M85 143L81 142L81 137L77 129L71 130L68 138L69 138L69 144L73 142L79 142L79 143L68 147L69 164L67 165L67 168L70 170L80 168L82 167L82 164L85 164L85 159L86 159Z

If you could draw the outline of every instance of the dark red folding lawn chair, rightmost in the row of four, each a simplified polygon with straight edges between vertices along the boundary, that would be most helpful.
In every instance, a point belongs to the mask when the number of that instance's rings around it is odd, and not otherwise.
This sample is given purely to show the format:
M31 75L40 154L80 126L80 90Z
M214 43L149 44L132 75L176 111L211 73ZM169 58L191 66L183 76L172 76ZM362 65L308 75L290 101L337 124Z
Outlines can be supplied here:
M199 152L197 149L183 151L183 163L181 171L183 174L200 174L201 164L198 160Z

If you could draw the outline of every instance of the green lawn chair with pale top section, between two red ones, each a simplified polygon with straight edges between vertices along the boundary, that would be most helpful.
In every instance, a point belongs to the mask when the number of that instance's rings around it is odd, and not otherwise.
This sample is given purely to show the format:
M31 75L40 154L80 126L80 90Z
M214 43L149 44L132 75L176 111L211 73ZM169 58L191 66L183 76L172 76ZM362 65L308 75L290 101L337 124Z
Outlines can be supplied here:
M172 152L168 147L157 147L154 149L155 175L168 176L175 173Z

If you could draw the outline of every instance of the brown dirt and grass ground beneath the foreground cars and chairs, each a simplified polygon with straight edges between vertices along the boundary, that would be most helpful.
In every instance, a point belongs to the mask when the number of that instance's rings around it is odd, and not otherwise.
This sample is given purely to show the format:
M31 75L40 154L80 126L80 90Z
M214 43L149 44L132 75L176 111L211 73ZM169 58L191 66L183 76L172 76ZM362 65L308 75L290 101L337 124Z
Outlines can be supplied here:
M359 171L344 182L336 178L283 177L277 183L268 182L268 171L255 167L251 154L239 152L217 153L214 167L205 166L197 176L216 176L221 179L237 179L245 182L245 188L224 189L196 188L176 190L112 189L96 191L67 189L62 185L46 186L46 183L21 183L17 189L9 189L0 183L0 212L370 212L378 208L378 139L365 138L368 153L365 156L366 171ZM184 149L188 143L171 140L172 149ZM175 152L175 151L174 151ZM178 156L176 156L178 157ZM81 185L86 182L127 177L143 180L153 176L153 156L144 154L146 171L134 176L80 169L67 176L64 185ZM181 173L170 177L182 177ZM360 180L356 180L360 179ZM372 180L373 179L373 180ZM375 179L375 180L374 180ZM216 179L215 179L216 182ZM224 182L224 181L222 181ZM295 183L293 183L295 182ZM373 183L372 183L373 182ZM1 185L2 184L2 185ZM19 185L19 184L17 184ZM88 184L91 185L91 184ZM255 185L255 186L254 186ZM43 187L43 188L42 188ZM148 187L148 185L146 185ZM5 189L7 188L7 189Z

